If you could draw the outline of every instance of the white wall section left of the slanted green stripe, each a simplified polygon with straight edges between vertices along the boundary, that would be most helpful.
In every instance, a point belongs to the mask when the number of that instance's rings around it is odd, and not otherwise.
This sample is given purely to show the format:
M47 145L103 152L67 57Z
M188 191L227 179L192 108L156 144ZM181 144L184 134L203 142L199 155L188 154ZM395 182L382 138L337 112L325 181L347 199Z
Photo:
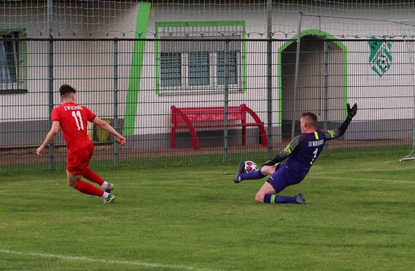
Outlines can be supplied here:
M55 39L108 39L109 37L133 38L136 28L138 4L125 6L118 11L118 18L112 20L103 14L111 10L108 4L93 3L81 9L81 5L70 6L62 3L54 6L53 37ZM47 39L47 9L44 4L14 5L7 8L10 15L0 20L0 29L27 29L26 37ZM122 21L124 19L124 21ZM107 36L105 31L111 31ZM122 32L125 32L122 34ZM42 33L42 35L41 35ZM91 33L91 34L90 34ZM28 41L28 93L0 94L0 121L28 121L48 119L48 42ZM118 63L119 101L118 114L124 114L129 66L133 41L119 42ZM77 89L77 101L87 104L100 116L113 115L113 42L112 41L54 41L53 42L53 86L68 83ZM55 93L54 103L59 104ZM30 108L24 108L24 106Z

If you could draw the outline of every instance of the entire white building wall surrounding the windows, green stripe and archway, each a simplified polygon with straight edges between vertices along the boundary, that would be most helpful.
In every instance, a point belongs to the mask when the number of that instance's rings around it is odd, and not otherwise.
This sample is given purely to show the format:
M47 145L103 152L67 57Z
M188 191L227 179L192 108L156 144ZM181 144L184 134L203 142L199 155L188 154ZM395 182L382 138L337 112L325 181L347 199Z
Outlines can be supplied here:
M112 37L134 37L137 14L137 4L120 8L116 15L106 17L104 12L113 10L109 4L93 3L94 6L87 6L80 13L79 8L62 4L62 7L55 7L54 28L62 28L59 38L107 38L106 32L111 32ZM66 6L65 6L66 5ZM80 4L77 4L79 7ZM89 3L91 5L91 3ZM265 39L266 35L266 12L261 6L249 10L211 10L196 12L191 6L178 6L173 11L162 10L156 6L154 16L150 17L147 38L151 39L154 34L154 24L160 21L220 21L220 20L244 20L246 21L246 32L250 33L248 39ZM343 12L344 17L348 14ZM18 16L19 15L19 16ZM341 15L341 14L339 14ZM382 17L383 16L383 17ZM0 28L37 28L39 31L46 30L46 9L44 5L20 6L10 10L10 17L15 21L2 23ZM412 19L412 15L403 12L402 14L365 14L368 19L385 19L395 17L400 19ZM381 35L385 33L398 34L398 30L391 23L379 21L353 21L351 19L329 19L317 17L303 17L302 30L318 29L321 27L325 32L347 38L359 36ZM73 32L75 31L75 36ZM297 31L297 18L291 13L273 13L273 31L275 39L291 38ZM91 32L91 36L89 36ZM124 32L123 36L121 33ZM261 37L261 34L264 34ZM286 36L287 34L287 36ZM30 30L27 37L46 38L46 34L39 36L39 32ZM124 114L124 105L127 101L127 90L129 85L129 72L131 66L131 53L133 52L132 41L119 42L118 63L119 68L119 111ZM93 45L91 45L93 44ZM97 44L99 45L97 47ZM350 103L357 102L361 110L357 120L371 119L412 119L412 85L407 54L403 43L393 43L392 56L394 57L391 70L382 79L370 76L373 74L369 62L370 48L367 43L345 42L348 50L348 100ZM79 90L78 101L80 103L93 103L91 109L99 115L113 112L113 55L111 42L85 42L76 41L68 48L63 42L56 42L54 48L54 87L57 91L62 83L71 83ZM282 42L273 43L273 97L278 99L277 84L277 54ZM247 43L247 76L248 91L243 93L230 93L230 105L246 103L252 110L259 114L265 123L267 120L266 101L266 43ZM0 103L8 105L1 107L1 119L26 120L30 118L47 119L47 61L46 44L39 46L39 41L28 42L28 94L1 94ZM98 53L98 52L109 52ZM399 52L399 53L398 53ZM97 54L98 53L98 54ZM154 74L154 43L147 41L145 47L145 58L142 69L142 80L138 96L138 110L136 118L136 134L168 133L170 121L170 106L221 106L223 105L223 94L198 94L163 96L156 95L155 74ZM365 76L364 74L368 74ZM407 74L407 75L402 75ZM393 87L396 86L396 87ZM104 91L104 94L99 92ZM203 101L203 103L201 103ZM55 95L55 103L59 97ZM35 108L22 110L17 105L37 105ZM39 106L41 105L41 106ZM279 120L278 101L273 105L273 122L277 125ZM112 113L111 113L112 114ZM337 120L338 118L335 117Z

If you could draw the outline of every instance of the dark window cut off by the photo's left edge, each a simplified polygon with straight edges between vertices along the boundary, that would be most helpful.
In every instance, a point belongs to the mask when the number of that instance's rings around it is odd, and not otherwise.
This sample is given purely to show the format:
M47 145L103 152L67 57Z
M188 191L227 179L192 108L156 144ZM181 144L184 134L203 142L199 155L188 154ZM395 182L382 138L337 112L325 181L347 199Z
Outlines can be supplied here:
M0 33L0 92L24 89L24 41L19 32Z

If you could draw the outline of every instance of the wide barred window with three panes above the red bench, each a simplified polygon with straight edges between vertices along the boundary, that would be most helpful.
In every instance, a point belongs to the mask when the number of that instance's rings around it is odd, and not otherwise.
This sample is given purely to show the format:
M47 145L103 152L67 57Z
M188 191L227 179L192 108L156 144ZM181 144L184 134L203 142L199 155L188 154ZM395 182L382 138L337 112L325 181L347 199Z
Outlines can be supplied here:
M227 72L228 88L241 90L242 29L239 26L218 28L221 27L158 28L158 37L165 39L158 41L161 91L223 90ZM168 41L185 38L189 41ZM229 41L230 39L234 41Z

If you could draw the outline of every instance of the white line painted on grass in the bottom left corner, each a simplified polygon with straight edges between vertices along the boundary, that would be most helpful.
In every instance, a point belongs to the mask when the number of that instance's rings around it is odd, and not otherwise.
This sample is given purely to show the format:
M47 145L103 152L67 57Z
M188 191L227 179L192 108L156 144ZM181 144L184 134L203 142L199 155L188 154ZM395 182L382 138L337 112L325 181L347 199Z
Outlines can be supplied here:
M108 259L91 259L88 257L72 257L72 256L64 256L64 255L56 255L56 254L44 254L44 253L36 253L36 252L18 252L12 250L0 250L0 253L3 254L15 254L20 256L33 256L33 257L42 257L42 258L55 258L55 259L64 259L64 260L72 260L72 261L89 261L95 263L112 263L118 265L136 265L136 266L144 266L147 268L172 268L172 269L179 269L179 270L194 270L194 271L222 271L217 269L208 269L208 268L194 268L193 266L185 266L185 265L169 265L163 263L144 263L139 261L117 261L117 260L108 260Z

